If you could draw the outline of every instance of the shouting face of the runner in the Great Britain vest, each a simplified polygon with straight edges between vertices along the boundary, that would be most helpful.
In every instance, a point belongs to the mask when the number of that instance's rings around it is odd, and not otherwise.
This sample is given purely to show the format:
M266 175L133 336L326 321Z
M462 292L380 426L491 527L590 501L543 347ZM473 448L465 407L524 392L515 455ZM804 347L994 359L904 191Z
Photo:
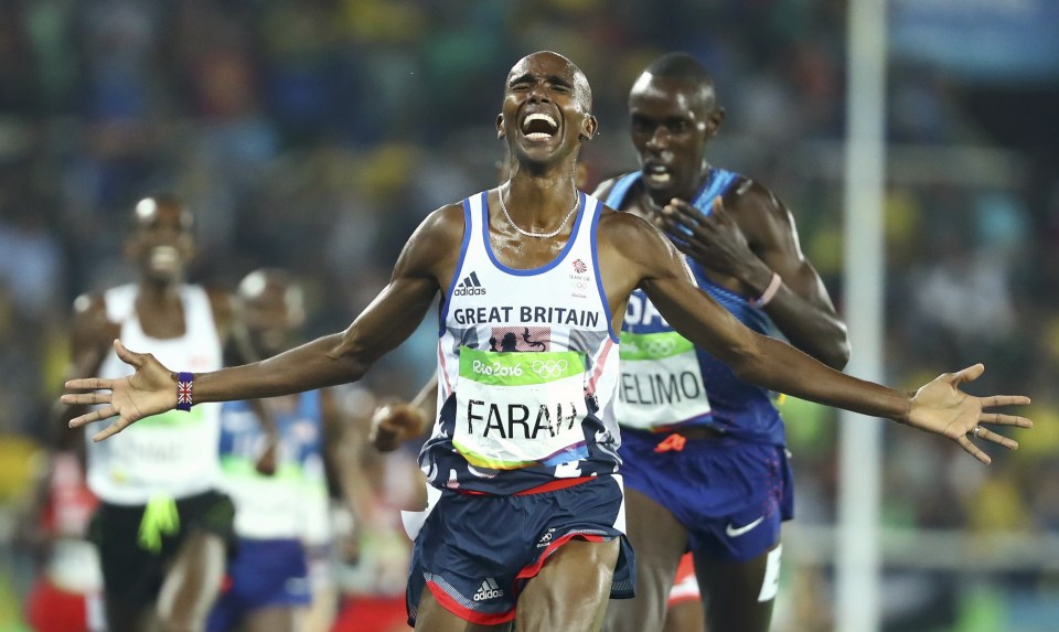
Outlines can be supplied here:
M509 73L496 130L516 161L550 162L596 133L590 109L591 94L580 71L561 55L535 53Z

